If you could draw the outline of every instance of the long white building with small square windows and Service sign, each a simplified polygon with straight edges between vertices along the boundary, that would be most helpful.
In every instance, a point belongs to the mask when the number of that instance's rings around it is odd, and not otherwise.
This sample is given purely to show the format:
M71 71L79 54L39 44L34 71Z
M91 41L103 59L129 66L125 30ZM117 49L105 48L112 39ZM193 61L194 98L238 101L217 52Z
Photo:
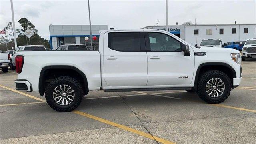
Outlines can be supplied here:
M146 26L147 29L166 30L166 26ZM204 39L221 39L222 42L245 41L256 38L256 24L196 24L168 26L168 32L190 44Z

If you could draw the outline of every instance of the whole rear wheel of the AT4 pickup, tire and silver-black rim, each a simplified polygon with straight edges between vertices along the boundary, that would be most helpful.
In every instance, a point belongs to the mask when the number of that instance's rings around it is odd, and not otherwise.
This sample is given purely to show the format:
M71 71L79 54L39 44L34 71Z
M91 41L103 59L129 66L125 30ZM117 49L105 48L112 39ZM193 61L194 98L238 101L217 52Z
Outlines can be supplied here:
M76 79L61 76L52 80L47 86L45 98L52 109L58 112L70 112L81 103L83 89Z

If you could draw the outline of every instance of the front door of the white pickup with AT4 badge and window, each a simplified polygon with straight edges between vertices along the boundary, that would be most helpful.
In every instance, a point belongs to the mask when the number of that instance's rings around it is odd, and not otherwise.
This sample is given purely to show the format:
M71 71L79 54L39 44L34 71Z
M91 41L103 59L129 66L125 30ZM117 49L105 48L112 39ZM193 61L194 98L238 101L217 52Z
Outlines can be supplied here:
M194 52L184 56L182 42L164 32L146 32L148 86L187 87L194 72Z

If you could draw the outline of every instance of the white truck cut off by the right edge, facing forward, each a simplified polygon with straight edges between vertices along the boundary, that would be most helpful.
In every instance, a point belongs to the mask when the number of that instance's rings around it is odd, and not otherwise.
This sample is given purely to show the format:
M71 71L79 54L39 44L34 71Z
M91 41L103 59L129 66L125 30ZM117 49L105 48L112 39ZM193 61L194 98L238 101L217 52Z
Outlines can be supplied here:
M246 40L242 49L242 61L246 58L256 58L256 38Z

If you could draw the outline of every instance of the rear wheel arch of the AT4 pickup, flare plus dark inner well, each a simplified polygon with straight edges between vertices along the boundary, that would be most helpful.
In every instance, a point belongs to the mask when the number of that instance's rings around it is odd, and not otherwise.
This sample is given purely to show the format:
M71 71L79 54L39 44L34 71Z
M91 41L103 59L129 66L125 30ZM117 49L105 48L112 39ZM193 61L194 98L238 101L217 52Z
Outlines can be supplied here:
M84 95L88 94L89 89L88 89L88 81L86 78L86 75L79 70L78 68L74 67L74 66L64 66L64 65L54 65L54 66L45 66L44 68L42 68L41 72L40 72L40 76L39 76L39 84L38 84L38 90L39 90L39 94L41 96L44 96L44 92L45 92L45 80L47 78L47 74L46 72L48 70L70 70L73 72L76 72L77 74L79 74L82 77L82 81L84 82L84 86L83 86L83 90L84 90ZM65 73L65 72L64 72ZM69 76L68 74L64 74L65 76ZM72 75L72 74L70 74ZM58 77L59 75L57 75L56 77Z

